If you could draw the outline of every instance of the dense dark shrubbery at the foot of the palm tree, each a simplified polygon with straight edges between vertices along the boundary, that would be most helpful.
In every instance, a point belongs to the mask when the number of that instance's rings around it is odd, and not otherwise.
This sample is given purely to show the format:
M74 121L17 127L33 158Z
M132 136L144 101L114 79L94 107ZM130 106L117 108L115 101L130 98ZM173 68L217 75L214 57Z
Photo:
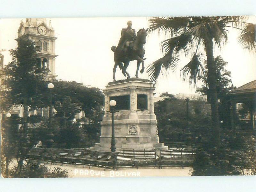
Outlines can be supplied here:
M255 137L222 130L219 147L203 138L202 149L196 151L192 176L256 175Z

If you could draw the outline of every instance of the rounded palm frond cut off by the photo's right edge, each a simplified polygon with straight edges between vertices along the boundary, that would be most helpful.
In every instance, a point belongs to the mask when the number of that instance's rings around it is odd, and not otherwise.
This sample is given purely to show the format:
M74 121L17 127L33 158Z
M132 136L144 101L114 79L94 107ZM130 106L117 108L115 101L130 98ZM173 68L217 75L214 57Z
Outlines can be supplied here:
M256 25L253 23L248 23L244 26L243 31L240 32L238 37L239 44L244 48L244 50L256 51Z

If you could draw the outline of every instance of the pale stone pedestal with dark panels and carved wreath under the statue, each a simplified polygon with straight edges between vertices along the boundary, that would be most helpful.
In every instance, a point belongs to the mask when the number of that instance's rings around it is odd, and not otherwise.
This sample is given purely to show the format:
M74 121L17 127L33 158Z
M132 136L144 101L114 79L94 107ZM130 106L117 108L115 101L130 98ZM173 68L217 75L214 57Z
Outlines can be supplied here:
M100 143L92 150L110 151L111 113L109 101L116 100L114 115L116 150L164 147L159 143L154 113L152 83L147 79L131 78L109 82L105 94L105 114L101 121ZM141 100L142 99L142 100Z

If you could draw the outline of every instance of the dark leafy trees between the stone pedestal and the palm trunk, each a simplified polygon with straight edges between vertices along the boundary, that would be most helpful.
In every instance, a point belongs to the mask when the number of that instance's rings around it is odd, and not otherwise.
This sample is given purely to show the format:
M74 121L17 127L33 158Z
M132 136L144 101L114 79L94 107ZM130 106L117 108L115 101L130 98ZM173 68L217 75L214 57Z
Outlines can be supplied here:
M162 95L162 94L161 94ZM174 97L172 94L154 104L157 119L158 135L161 142L185 142L187 119L186 101ZM197 142L200 135L206 137L209 134L208 127L210 119L205 110L204 102L189 102L188 126L192 132L193 142Z

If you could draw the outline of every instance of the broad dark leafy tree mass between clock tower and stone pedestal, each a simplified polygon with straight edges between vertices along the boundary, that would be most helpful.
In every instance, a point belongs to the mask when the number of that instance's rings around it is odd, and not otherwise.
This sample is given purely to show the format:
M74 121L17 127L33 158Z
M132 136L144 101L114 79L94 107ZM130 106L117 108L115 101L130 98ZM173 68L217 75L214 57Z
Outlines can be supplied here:
M52 118L55 147L85 147L91 142L97 142L104 112L102 91L75 81L52 80L51 82L54 84L51 90L52 106L56 110ZM45 83L47 85L49 82ZM49 92L46 91L41 100L47 103L49 97ZM81 111L84 111L85 117L74 123L76 113ZM47 122L43 124L42 127L47 127ZM44 136L41 138L45 139Z

